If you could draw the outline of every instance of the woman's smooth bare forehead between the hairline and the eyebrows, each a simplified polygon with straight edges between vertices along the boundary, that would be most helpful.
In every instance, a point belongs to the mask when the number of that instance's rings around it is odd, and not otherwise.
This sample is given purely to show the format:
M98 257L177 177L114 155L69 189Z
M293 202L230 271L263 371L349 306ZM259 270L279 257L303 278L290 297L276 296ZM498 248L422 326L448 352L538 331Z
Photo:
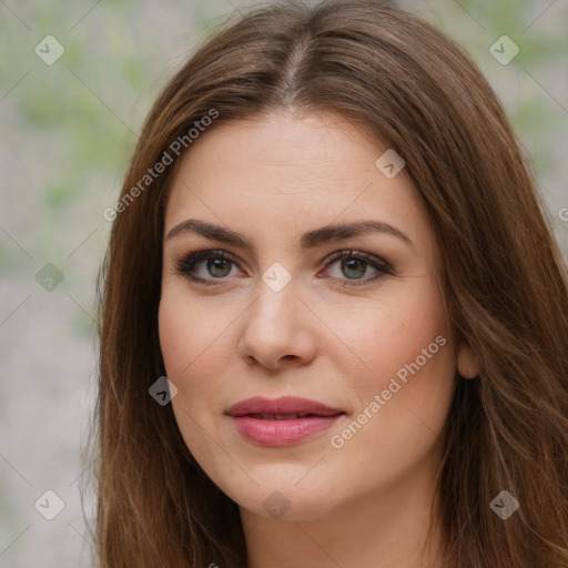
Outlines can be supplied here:
M165 232L191 216L282 239L364 217L427 240L404 169L389 179L376 165L387 150L335 114L278 112L216 125L183 158L170 190Z

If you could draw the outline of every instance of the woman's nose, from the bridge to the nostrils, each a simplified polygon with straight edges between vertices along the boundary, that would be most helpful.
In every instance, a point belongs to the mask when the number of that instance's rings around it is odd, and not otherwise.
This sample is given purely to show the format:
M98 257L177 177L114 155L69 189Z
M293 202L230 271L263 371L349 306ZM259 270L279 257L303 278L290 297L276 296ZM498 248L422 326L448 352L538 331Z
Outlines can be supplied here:
M247 365L270 371L303 366L316 354L310 310L296 295L294 278L280 292L258 282L256 300L245 311L239 354Z

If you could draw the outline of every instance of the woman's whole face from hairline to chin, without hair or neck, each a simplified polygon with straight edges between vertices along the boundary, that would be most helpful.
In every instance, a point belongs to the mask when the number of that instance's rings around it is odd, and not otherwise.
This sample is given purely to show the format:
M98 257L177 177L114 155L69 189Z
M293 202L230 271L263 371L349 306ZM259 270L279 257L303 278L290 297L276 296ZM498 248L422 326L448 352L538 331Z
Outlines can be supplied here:
M273 113L203 134L173 182L173 410L242 510L307 520L433 479L459 358L425 213L387 150L332 114Z

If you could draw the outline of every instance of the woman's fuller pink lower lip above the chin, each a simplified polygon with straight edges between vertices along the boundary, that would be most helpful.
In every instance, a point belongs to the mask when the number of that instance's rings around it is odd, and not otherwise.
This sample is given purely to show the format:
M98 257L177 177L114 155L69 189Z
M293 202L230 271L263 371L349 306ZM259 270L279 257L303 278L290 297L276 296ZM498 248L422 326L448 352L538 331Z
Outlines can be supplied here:
M252 416L232 416L243 438L261 446L291 446L329 428L343 415L314 416L290 420L263 420Z

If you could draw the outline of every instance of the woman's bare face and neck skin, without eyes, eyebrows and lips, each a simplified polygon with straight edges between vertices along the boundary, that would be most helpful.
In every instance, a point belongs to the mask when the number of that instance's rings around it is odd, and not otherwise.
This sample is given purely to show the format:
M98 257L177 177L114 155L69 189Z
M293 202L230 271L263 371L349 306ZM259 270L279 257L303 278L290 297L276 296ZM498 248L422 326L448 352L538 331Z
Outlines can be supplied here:
M375 165L387 149L334 114L273 112L202 134L171 186L159 326L166 373L179 389L173 410L195 459L240 506L248 568L437 566L436 531L432 549L422 551L445 422L456 371L470 378L477 364L467 346L452 342L416 190L405 170L387 179ZM165 239L187 219L230 227L255 250L191 233ZM368 233L300 246L306 231L361 220L388 223L413 245ZM175 263L197 247L236 257L216 271L207 271L207 261L195 267L220 286L176 272ZM388 262L393 274L372 281L378 272L365 262L351 271L342 260L328 264L345 250ZM275 262L292 277L277 293L262 280ZM365 283L349 286L354 280ZM446 344L333 447L332 436L437 336ZM261 447L224 414L251 396L285 395L346 415L308 440ZM280 518L263 507L274 491L283 497L272 499L290 507Z

